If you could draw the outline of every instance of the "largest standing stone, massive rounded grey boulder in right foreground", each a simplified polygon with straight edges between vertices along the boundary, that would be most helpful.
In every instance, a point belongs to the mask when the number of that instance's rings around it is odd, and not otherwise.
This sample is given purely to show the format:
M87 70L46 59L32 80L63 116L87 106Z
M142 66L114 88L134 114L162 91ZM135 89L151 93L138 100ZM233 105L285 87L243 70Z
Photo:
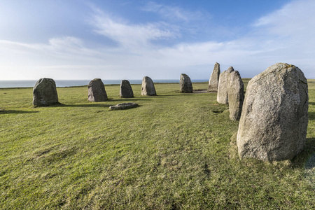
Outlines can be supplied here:
M307 110L307 80L297 66L278 63L253 77L239 120L239 157L292 159L306 141Z

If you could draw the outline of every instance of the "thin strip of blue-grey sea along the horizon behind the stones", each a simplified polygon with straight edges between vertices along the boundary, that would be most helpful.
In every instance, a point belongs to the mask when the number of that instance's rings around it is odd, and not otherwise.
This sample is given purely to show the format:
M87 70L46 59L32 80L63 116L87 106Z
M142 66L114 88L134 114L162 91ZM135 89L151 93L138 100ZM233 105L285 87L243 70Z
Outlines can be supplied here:
M0 80L0 88L7 87L34 87L37 80ZM102 80L104 85L120 84L121 80ZM192 79L192 83L208 82L204 79ZM141 84L142 80L129 80L130 84ZM179 83L179 80L153 80L154 83ZM57 87L76 87L88 85L90 80L55 80Z

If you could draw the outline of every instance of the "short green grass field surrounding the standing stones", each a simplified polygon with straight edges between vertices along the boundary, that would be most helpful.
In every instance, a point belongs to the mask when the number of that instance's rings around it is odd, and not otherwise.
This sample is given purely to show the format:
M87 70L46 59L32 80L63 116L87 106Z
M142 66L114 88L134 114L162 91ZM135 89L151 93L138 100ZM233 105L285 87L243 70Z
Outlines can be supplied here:
M248 80L246 80L248 82ZM207 89L207 83L194 83ZM32 89L0 89L0 209L313 209L315 83L304 151L292 161L239 160L228 106L216 94L87 102L87 87L57 88L63 106L33 108ZM120 102L140 106L109 111Z

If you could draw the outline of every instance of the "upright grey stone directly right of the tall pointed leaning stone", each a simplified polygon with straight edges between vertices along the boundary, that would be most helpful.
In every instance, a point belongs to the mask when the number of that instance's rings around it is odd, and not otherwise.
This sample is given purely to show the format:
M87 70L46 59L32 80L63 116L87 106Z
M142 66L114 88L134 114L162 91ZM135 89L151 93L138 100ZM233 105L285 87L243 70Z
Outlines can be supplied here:
M228 86L227 86L227 76L229 73L234 71L233 67L230 66L228 70L220 73L220 78L218 81L218 94L216 95L216 101L219 104L228 104Z

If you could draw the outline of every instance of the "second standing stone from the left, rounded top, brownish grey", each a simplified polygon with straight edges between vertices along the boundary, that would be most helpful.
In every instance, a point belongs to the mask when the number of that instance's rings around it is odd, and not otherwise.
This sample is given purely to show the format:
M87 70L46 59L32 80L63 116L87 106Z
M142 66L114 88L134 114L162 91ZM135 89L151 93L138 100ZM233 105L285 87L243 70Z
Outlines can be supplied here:
M94 80L91 80L87 87L88 100L90 102L105 102L108 99L104 83L100 78L94 78Z

